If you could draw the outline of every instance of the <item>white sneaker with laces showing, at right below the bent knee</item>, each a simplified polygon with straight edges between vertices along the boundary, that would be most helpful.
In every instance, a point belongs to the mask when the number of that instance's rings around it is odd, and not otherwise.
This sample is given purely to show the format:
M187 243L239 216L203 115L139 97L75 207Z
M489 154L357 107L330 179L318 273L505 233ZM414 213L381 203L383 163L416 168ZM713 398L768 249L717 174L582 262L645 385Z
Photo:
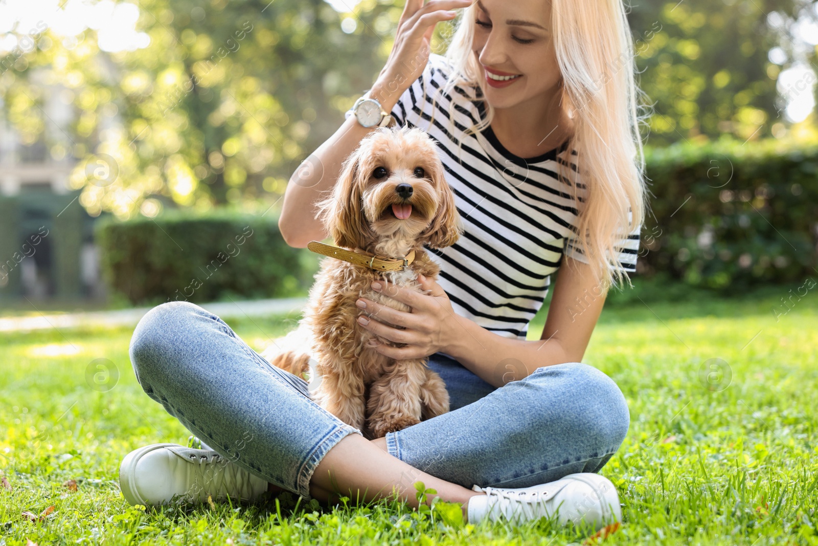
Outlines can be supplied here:
M485 492L469 499L469 523L500 517L522 523L541 517L555 517L560 525L591 525L595 530L622 520L619 495L604 476L592 473L569 474L548 484L524 489L481 488Z

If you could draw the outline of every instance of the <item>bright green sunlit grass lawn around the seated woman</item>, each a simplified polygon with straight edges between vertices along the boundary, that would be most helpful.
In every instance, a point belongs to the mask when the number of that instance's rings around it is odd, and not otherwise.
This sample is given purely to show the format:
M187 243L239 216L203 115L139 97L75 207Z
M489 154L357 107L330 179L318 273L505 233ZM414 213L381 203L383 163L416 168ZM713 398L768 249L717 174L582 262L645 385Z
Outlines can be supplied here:
M631 408L627 439L602 470L623 503L622 528L605 544L818 544L818 293L776 322L788 290L605 310L585 361L618 382ZM231 325L258 350L293 323ZM137 385L129 337L0 338L0 473L13 488L0 487L0 545L582 543L544 521L452 526L387 502L293 512L285 495L277 505L128 507L117 484L124 454L189 434ZM92 388L95 361L119 372L110 390ZM21 516L50 506L44 521Z

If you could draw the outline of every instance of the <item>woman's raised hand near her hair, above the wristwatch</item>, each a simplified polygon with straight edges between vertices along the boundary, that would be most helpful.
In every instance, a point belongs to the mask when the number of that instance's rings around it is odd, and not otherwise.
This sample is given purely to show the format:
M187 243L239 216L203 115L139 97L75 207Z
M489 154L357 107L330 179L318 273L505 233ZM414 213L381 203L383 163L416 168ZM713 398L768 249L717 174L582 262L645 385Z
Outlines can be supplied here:
M429 61L434 25L455 18L456 9L469 7L472 0L407 0L389 59L372 86L372 96L391 111L398 98L420 77Z

